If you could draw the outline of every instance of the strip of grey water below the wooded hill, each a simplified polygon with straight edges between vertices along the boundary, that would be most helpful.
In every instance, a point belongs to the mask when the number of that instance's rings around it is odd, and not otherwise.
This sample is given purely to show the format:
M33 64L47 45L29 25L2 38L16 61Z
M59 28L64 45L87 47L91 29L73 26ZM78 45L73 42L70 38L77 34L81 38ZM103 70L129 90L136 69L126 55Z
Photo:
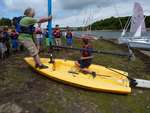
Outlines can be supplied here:
M118 39L121 36L121 31L91 31L89 32L81 32L75 31L75 36L80 36L82 34L91 34L96 36L97 38L103 37L104 39ZM126 34L127 36L130 35L129 33ZM144 33L144 36L150 36L150 32Z

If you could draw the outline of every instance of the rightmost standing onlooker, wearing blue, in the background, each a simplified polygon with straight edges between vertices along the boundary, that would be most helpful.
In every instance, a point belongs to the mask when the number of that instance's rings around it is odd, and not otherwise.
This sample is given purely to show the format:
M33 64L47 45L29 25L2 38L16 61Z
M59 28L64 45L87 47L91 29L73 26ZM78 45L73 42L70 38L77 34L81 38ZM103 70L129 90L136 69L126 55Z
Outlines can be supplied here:
M73 34L72 31L70 30L69 27L67 27L67 31L66 31L66 44L69 47L72 47L72 42L73 42Z

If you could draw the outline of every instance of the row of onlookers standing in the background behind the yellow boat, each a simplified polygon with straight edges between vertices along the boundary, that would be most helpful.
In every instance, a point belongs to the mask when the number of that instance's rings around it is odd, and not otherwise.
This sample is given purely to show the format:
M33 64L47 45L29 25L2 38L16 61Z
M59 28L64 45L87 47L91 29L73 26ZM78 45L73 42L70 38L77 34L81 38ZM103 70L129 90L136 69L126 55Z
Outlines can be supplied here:
M48 38L48 30L43 30L41 23L38 23L35 28L34 41L36 47L39 51L43 50L45 46L44 40ZM9 57L10 53L16 53L18 51L23 51L23 45L18 41L19 33L16 29L9 30L8 27L0 29L0 58ZM62 37L65 37L66 44L72 47L73 44L73 33L71 29L67 26L66 31L63 33L59 25L56 25L52 32L52 37L54 39L54 44L56 46L62 46ZM64 44L63 44L64 45Z

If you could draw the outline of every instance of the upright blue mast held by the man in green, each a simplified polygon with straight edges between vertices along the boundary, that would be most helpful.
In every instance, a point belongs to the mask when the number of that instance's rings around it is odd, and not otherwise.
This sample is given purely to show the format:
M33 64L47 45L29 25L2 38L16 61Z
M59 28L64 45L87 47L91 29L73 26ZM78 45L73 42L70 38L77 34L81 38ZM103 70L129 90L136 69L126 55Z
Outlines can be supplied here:
M52 15L52 0L48 0L48 16ZM48 21L48 38L49 45L52 46L52 21Z

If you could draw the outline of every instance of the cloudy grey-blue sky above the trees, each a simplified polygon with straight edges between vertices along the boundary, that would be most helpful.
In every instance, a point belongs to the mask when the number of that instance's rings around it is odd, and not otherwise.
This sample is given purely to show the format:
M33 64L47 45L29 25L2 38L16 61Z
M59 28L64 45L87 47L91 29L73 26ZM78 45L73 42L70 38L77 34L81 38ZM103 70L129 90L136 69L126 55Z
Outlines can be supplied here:
M150 0L52 0L53 25L82 26L111 16L132 15L135 1L150 15ZM35 8L37 18L47 15L47 0L0 0L0 17L23 15L27 7Z

